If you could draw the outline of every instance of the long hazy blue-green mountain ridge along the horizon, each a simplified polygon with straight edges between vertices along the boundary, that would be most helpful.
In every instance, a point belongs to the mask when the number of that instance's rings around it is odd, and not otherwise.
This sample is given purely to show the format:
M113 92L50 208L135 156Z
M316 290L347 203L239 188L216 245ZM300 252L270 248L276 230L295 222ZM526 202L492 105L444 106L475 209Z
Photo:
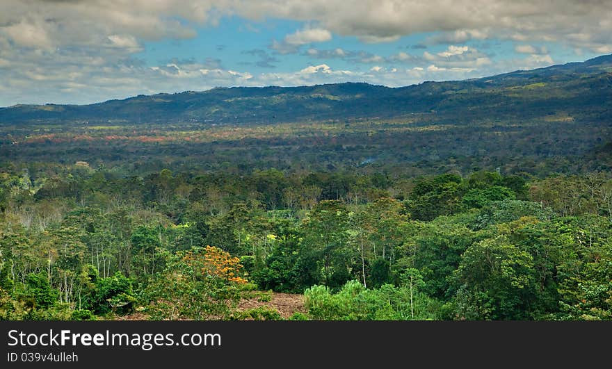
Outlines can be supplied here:
M0 124L109 121L267 124L389 119L415 113L431 114L435 120L456 124L558 114L609 121L612 55L481 79L428 81L401 88L367 83L213 88L203 92L139 95L90 105L17 105L0 108Z

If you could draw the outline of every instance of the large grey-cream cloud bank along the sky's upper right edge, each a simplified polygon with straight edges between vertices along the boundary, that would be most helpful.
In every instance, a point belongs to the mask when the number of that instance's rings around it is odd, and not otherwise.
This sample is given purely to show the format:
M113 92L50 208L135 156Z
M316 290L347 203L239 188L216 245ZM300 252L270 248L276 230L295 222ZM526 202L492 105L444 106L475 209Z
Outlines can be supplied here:
M236 13L254 19L282 17L316 22L339 35L363 42L396 40L402 35L444 32L429 42L462 43L487 38L566 42L584 33L589 48L609 44L611 1L558 0L262 0L239 3ZM435 11L432 11L435 9Z

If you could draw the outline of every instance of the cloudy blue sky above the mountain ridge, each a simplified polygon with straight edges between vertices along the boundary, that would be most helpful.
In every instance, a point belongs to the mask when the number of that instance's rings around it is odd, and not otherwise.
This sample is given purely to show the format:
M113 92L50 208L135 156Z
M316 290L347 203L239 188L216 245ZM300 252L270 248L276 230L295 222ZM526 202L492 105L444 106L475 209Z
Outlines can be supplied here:
M0 0L0 106L397 87L604 54L609 0Z

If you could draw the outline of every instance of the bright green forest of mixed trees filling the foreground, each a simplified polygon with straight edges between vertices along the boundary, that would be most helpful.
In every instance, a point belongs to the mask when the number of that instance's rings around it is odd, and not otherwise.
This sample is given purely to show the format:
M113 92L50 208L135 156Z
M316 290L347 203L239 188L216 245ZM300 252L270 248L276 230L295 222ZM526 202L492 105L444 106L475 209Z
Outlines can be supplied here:
M280 318L236 309L266 291L303 293L305 319L611 317L602 172L58 168L2 174L4 319Z

